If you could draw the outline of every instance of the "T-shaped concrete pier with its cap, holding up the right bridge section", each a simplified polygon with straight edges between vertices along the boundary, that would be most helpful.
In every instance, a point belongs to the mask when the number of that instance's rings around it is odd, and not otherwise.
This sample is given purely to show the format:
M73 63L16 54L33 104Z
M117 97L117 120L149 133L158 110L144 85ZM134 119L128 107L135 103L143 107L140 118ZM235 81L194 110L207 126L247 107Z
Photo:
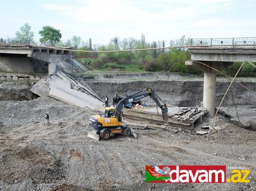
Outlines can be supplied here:
M202 65L201 63L205 65ZM216 70L223 70L231 65L233 62L207 62L207 61L186 61L185 64L197 68L204 72L204 97L203 106L208 111L208 117L214 118L215 114L215 89L216 89ZM207 67L209 66L209 67ZM210 68L212 67L212 68Z

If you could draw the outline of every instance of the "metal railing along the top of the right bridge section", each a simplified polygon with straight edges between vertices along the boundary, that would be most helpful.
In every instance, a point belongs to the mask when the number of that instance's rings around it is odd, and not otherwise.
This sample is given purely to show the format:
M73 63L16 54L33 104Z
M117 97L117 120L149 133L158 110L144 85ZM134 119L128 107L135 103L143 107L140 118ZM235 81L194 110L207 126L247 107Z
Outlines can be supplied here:
M245 37L245 38L214 38L214 39L191 39L190 45L192 47L199 46L256 46L256 37Z

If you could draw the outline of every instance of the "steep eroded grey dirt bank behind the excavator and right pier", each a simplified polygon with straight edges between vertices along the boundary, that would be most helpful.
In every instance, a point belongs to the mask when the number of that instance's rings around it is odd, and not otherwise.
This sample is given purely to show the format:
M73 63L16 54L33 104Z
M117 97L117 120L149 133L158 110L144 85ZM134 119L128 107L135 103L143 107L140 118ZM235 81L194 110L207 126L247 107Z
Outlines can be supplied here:
M111 81L111 80L110 80ZM216 105L219 105L225 91L229 87L229 82L217 82L216 87ZM144 88L150 87L160 96L160 98L170 105L175 105L174 100L179 106L195 106L199 105L203 100L204 82L184 82L184 81L154 81L154 82L91 82L89 83L92 90L94 90L101 98L106 95L109 98L124 93L132 94ZM245 82L252 91L256 91L254 82ZM172 99L174 96L174 100ZM150 101L149 99L147 101ZM151 102L151 101L150 101ZM234 83L230 88L229 93L224 100L223 106L230 105L256 105L256 95L250 93L238 83Z

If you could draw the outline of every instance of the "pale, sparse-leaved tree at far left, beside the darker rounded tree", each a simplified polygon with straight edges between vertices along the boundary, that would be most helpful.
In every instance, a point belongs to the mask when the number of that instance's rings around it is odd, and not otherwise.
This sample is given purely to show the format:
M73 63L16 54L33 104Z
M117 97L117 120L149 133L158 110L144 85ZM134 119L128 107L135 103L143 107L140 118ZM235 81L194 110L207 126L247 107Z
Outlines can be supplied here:
M26 22L15 32L15 38L21 40L22 43L31 44L34 42L34 32L31 31L31 26Z

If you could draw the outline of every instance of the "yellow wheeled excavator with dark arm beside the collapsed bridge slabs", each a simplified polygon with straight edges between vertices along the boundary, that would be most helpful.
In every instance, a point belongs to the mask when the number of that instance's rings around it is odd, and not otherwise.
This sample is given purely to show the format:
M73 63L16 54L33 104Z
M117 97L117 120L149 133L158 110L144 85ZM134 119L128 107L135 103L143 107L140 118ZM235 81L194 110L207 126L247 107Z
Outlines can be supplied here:
M93 115L89 118L89 126L93 131L88 133L88 137L99 141L101 138L104 140L109 139L114 134L122 134L122 136L130 136L133 131L122 121L122 109L129 107L134 102L140 101L142 98L149 96L162 110L162 116L167 123L168 109L166 104L157 96L151 88L137 91L133 95L126 95L118 101L116 106L106 107L104 115ZM162 102L162 104L160 103Z

